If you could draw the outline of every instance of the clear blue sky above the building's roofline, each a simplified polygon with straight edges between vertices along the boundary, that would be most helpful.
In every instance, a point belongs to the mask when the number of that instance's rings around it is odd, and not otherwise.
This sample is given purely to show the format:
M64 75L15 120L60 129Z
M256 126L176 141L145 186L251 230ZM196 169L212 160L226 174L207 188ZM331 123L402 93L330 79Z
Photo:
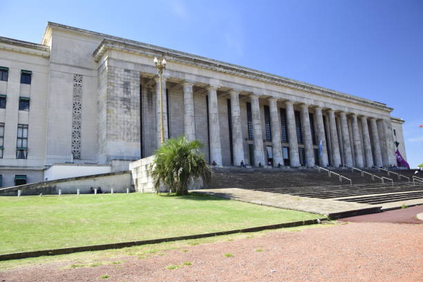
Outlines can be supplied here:
M0 0L0 7L4 37L40 42L54 21L386 103L406 120L408 162L423 162L423 0Z

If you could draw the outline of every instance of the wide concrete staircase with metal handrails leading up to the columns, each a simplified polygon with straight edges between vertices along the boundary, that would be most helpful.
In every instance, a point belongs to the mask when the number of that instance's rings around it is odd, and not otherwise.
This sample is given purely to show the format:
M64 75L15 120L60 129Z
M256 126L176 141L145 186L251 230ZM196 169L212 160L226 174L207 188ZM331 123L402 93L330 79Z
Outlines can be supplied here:
M349 181L339 182L339 176L317 169L243 169L243 168L214 168L214 175L209 188L241 188L256 191L267 191L278 194L289 194L310 198L326 198L355 203L378 205L403 200L423 199L423 183L413 185L406 178L398 179L397 175L377 169L366 169L380 178L391 178L393 182L369 176L351 169L330 169L339 173ZM412 179L413 170L396 170Z

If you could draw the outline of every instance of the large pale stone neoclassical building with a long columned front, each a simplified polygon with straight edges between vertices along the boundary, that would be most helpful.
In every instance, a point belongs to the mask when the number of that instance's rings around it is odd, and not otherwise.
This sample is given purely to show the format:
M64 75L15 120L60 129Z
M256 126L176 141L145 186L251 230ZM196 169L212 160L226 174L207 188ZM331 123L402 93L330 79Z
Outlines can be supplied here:
M165 138L186 134L218 165L388 167L392 108L328 88L48 23L41 44L0 37L2 186L53 164L128 169L160 144L154 57L165 57ZM319 144L321 152L319 153Z

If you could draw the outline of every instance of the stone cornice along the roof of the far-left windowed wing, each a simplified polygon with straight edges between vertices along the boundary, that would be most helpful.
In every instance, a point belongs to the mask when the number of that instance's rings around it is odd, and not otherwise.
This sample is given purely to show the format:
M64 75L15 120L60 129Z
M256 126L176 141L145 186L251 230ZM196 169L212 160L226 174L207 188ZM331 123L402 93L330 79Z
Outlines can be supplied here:
M50 48L48 46L7 37L0 37L0 50L50 57Z

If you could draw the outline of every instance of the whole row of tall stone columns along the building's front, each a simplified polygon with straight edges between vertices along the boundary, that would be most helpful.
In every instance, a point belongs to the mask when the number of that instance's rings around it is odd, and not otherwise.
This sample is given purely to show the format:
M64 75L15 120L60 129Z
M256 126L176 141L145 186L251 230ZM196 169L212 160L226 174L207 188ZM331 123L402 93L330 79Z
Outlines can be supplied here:
M156 79L156 82L157 79ZM163 104L166 103L166 78L162 80ZM156 83L157 97L157 138L160 146L160 93ZM184 132L188 140L196 139L193 82L184 82ZM209 160L217 165L222 165L222 149L220 144L220 125L218 111L218 86L207 86L208 94L208 119L209 119ZM245 156L245 143L241 124L240 91L230 90L230 116L232 120L232 159L234 165L241 164ZM254 144L254 164L259 166L267 164L265 158L265 143L263 142L263 122L259 104L259 95L247 94L251 102L252 132ZM303 147L306 165L309 167L319 163L321 167L340 167L342 165L355 167L388 167L396 163L393 147L393 134L391 121L379 119L356 113L347 113L337 109L322 109L321 106L281 100L278 97L266 97L270 107L270 125L272 132L272 159L273 165L283 165L283 143L281 141L281 121L279 119L279 103L285 104L286 126L288 129L289 159L291 167L299 167L299 144L297 141L297 124L294 106L299 106L301 116L301 132L303 134ZM314 124L310 123L309 114L314 113ZM167 131L166 107L163 107L164 130ZM325 128L323 115L328 118ZM337 126L337 118L339 125ZM350 120L350 122L348 122ZM360 124L359 124L360 121ZM368 123L370 126L368 126ZM312 136L312 128L315 136ZM164 133L167 138L167 132ZM329 140L326 140L328 138ZM313 144L317 140L317 144ZM361 144L363 143L363 144ZM392 143L392 144L391 144ZM314 153L315 147L319 153ZM330 150L330 154L329 151ZM319 160L315 160L319 158ZM395 161L395 162L394 162Z

